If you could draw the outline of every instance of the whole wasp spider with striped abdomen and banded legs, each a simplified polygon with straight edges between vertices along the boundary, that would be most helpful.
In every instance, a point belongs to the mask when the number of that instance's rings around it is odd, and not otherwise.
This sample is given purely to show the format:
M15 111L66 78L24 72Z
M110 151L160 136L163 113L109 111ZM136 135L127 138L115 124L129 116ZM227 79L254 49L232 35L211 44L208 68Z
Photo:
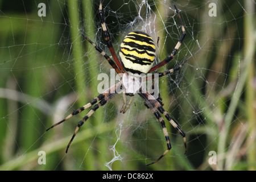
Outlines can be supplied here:
M171 55L167 56L166 59L164 59L163 61L161 61L160 63L156 64L153 67L153 63L155 60L155 44L152 38L148 34L141 31L133 31L125 36L119 50L120 61L118 60L117 55L115 54L112 42L109 38L109 32L105 24L104 11L102 10L102 0L100 1L99 14L100 14L101 26L102 26L102 30L104 31L106 45L108 46L114 61L100 47L94 44L87 36L85 36L84 34L82 34L82 36L84 36L84 38L88 40L88 42L92 44L92 46L98 52L100 52L101 55L104 56L106 60L108 60L108 63L115 69L115 72L117 72L121 76L121 81L111 86L109 89L105 90L105 92L101 93L96 98L94 98L91 102L73 111L73 113L69 114L66 118L64 118L58 123L55 123L55 125L52 125L46 130L48 131L49 129L52 129L53 127L59 125L60 123L67 121L67 119L71 118L73 115L79 114L81 111L94 105L93 108L88 112L88 114L86 114L85 117L82 118L81 121L78 123L75 133L73 134L70 142L68 143L66 153L68 152L68 148L71 145L80 127L85 123L85 121L87 121L87 119L94 113L94 111L96 111L99 107L105 105L106 102L108 102L115 95L118 94L117 92L118 88L123 88L124 90L123 91L124 104L120 111L121 113L126 112L133 98L131 97L131 100L129 101L129 103L127 103L126 95L134 96L135 93L138 93L139 96L141 96L142 100L144 101L146 107L150 109L152 113L154 113L155 117L160 121L160 124L162 125L164 137L166 138L167 149L166 151L163 152L162 155L160 155L158 159L147 164L147 166L158 162L161 158L163 158L164 155L167 154L168 151L171 150L171 142L166 129L166 124L164 122L164 119L161 117L160 113L162 113L164 117L166 117L166 119L171 123L171 125L180 133L181 137L183 137L185 153L187 152L187 145L186 145L184 131L182 131L179 126L177 126L177 124L173 119L171 119L167 111L163 109L163 103L162 103L162 98L160 97L160 94L159 94L159 97L155 99L150 92L147 92L142 88L141 86L142 77L138 76L138 74L140 73L147 74L147 73L156 71L158 68L169 63L175 57L177 50L180 48L181 43L185 38L186 32L179 14L179 10L175 5L174 7L180 19L181 30L182 30L181 37L179 39L179 42L177 42ZM158 73L159 74L158 76L162 77L169 73L178 71L179 69L181 69L181 67L183 67L186 61L187 60L183 61L183 63L181 63L179 66L175 68L172 68L162 73ZM154 80L154 75L146 76L143 79Z

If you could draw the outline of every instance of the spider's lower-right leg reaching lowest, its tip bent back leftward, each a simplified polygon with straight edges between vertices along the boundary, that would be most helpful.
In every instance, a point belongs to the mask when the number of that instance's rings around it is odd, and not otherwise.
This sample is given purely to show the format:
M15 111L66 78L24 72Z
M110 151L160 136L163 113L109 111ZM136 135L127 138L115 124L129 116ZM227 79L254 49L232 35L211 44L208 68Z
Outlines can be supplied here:
M171 142L170 142L170 138L169 138L169 135L168 135L168 132L166 129L166 123L164 122L164 119L161 117L161 115L158 112L158 110L156 109L156 107L154 105L152 105L152 103L148 100L148 98L144 94L139 93L139 96L142 97L146 106L152 111L152 113L155 115L155 117L160 121L160 123L163 127L164 137L166 138L166 143L167 143L167 150L164 151L164 153L158 159L156 159L154 162L147 164L147 166L149 166L151 164L158 162L161 158L163 158L163 156L166 155L168 153L168 151L171 150L172 147L171 147Z

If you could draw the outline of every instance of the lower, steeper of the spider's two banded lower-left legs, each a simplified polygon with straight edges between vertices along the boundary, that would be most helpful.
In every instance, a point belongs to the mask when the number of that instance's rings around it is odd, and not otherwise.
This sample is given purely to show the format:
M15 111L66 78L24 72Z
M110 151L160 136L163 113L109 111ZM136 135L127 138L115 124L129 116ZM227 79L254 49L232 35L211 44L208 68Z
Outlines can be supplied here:
M80 127L85 123L85 121L86 121L99 107L105 105L106 102L108 102L109 100L111 100L116 94L117 94L117 93L110 93L110 94L108 94L108 96L106 96L105 98L103 98L98 104L94 105L93 109L91 109L91 110L89 111L89 113L86 114L84 118L82 118L82 120L78 123L78 125L77 125L77 127L76 127L75 133L73 134L71 140L70 140L69 143L68 143L66 153L68 152L68 148L69 148L69 146L71 145L73 139L76 137L77 131L79 131Z

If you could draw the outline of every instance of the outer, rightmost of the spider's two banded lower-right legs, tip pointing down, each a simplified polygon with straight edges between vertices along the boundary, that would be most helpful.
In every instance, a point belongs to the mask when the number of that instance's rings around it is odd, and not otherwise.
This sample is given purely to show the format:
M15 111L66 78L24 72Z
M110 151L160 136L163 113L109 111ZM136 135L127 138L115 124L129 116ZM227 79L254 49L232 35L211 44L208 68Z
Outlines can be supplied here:
M166 110L163 109L163 106L148 92L143 92L142 93L148 101L151 102L152 105L156 107L160 111L160 113L164 114L164 117L171 123L171 125L180 133L181 137L183 137L183 142L184 142L184 147L185 147L185 153L187 153L187 143L186 143L186 138L185 138L185 133L180 129L179 126L174 122L174 120L171 119L170 115L167 113Z

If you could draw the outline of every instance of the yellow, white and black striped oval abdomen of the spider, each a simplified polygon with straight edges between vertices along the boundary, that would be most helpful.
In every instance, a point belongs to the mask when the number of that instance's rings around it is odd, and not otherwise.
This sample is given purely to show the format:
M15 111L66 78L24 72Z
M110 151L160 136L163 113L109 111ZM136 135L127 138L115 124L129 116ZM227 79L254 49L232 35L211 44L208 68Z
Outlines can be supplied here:
M121 43L119 56L126 72L146 74L155 60L155 44L144 32L130 32Z

